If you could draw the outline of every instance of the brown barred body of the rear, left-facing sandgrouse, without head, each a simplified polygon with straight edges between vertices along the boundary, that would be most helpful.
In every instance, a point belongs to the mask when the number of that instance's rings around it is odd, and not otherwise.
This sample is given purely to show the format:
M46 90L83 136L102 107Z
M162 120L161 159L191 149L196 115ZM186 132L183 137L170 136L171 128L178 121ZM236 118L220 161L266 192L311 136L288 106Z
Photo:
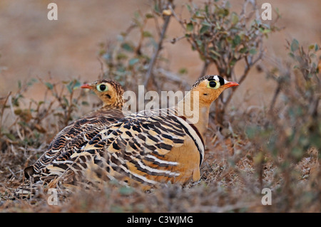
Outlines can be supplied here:
M56 135L46 152L33 165L24 169L27 179L14 191L14 197L19 198L26 194L33 194L34 186L56 179L56 176L59 176L61 172L51 169L53 164L60 166L58 169L66 169L66 162L73 162L70 157L74 152L77 152L98 132L121 117L123 117L121 110L101 108L65 127Z

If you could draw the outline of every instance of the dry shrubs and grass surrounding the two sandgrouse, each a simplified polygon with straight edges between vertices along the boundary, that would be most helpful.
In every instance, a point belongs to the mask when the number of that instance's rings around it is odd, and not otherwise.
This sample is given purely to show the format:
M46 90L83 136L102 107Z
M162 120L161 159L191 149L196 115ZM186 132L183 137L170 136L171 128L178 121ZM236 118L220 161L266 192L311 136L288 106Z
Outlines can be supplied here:
M208 9L206 6L212 8ZM138 11L130 28L118 37L118 41L101 45L102 70L99 77L116 79L123 83L126 90L133 91L137 91L137 86L146 81L148 90L188 89L182 76L166 70L166 59L161 55L163 33L169 19L174 17L172 19L178 19L189 34L183 34L182 38L188 38L192 46L203 53L204 71L212 58L213 63L222 62L220 70L223 76L243 81L243 76L238 78L233 74L235 62L232 65L225 64L228 68L223 68L223 61L228 59L221 56L220 50L214 49L215 46L205 48L209 37L206 34L217 32L215 29L218 27L216 24L211 25L210 21L204 23L208 19L206 14L211 14L208 10L213 10L213 14L218 12L216 16L223 21L228 20L228 23L240 23L243 13L237 17L237 13L228 12L226 1L208 1L204 9L195 7L194 4L187 8L192 14L190 21L183 21L178 17L173 1L153 1L150 12L143 14ZM164 10L170 11L164 13ZM155 21L156 31L147 30L147 20ZM264 34L267 33L265 29L272 31L267 25L258 26L258 29ZM227 29L225 32L228 31ZM130 38L132 36L138 36L137 41L133 41ZM239 40L240 36L238 38L235 33L230 36L230 46L223 48L224 52L230 51L230 56L239 51L239 57L242 56L245 61L253 55L256 58L263 57L260 51L263 51L261 41L265 36L259 37L260 45L250 43L250 47L246 49L244 48L248 43L243 43L246 42L243 39ZM212 52L210 48L213 48ZM287 48L288 59L274 60L270 64L272 66L263 68L267 80L275 81L274 96L269 106L249 106L244 111L231 110L220 119L219 124L210 122L199 184L183 187L164 184L146 193L135 188L117 186L114 182L105 182L90 191L75 189L71 194L61 194L58 205L52 206L47 202L50 194L46 191L39 191L31 200L11 201L8 198L11 191L24 180L22 169L36 161L54 135L68 122L76 120L97 104L88 101L94 99L91 94L76 89L80 85L78 80L52 82L49 75L46 81L38 78L26 85L19 83L17 93L9 93L0 100L0 210L320 212L319 46L312 44L305 48L293 40L287 42ZM246 70L253 65L248 65L245 69L245 76ZM184 69L180 73L184 73ZM40 102L24 96L26 90L33 88L35 84L46 87L44 99ZM211 113L213 118L216 110L217 108ZM263 206L261 203L264 188L272 190L270 206Z

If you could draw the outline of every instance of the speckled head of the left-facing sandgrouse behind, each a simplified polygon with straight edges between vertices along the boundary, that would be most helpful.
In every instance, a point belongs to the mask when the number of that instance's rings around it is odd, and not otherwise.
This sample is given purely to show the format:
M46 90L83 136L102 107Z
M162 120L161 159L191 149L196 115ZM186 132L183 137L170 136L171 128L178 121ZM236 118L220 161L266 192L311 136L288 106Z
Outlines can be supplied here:
M103 101L103 106L121 108L123 106L123 88L115 80L97 80L81 85L81 88L93 90Z

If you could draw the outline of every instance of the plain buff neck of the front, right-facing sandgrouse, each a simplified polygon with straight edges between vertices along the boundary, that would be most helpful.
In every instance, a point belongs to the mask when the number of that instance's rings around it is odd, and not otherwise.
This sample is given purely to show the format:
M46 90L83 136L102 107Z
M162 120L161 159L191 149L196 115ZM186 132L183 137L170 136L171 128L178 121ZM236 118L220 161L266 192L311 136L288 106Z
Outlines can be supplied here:
M205 137L205 132L208 129L210 104L208 105L200 100L198 91L190 90L183 100L178 102L177 111L178 116L185 117L186 121L193 124L202 137Z

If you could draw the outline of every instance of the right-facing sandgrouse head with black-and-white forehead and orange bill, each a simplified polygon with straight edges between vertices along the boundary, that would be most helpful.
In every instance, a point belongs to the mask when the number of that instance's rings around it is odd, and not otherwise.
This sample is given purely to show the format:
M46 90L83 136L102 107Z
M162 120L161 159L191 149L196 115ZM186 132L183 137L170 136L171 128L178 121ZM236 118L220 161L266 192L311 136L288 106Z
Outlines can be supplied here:
M194 83L191 92L198 91L200 105L209 106L223 90L238 85L238 83L225 80L220 75L205 75Z

